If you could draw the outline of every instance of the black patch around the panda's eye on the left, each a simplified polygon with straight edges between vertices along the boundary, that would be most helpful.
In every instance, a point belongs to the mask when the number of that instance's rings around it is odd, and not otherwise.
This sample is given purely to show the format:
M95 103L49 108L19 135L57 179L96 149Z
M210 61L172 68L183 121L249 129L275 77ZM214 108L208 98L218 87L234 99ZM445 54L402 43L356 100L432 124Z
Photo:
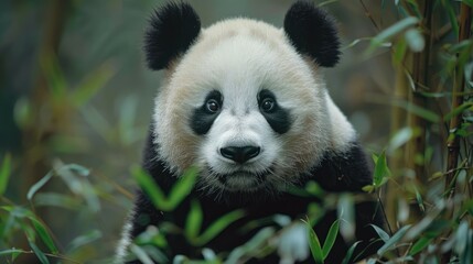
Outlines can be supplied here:
M219 91L212 90L208 92L202 106L194 109L194 113L191 117L191 129L196 134L206 134L218 117L218 113L221 113L222 103L223 97Z

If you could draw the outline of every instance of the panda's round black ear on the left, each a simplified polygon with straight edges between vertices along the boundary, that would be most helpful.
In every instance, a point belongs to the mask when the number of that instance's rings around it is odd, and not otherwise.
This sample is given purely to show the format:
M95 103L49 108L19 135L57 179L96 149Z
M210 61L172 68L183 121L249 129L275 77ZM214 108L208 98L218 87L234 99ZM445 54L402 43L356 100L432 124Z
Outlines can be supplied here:
M189 3L169 2L154 10L144 35L148 67L166 68L187 51L200 32L201 20Z

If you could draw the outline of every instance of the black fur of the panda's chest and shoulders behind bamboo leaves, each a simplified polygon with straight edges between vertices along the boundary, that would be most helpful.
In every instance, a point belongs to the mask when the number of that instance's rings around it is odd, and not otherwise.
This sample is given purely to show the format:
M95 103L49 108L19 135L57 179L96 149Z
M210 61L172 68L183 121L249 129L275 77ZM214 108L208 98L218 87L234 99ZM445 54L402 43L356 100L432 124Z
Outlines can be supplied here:
M165 169L165 165L162 161L157 160L157 146L153 142L153 134L151 132L144 153L143 167L150 175L152 175L162 189L169 190L175 183L175 177ZM346 153L340 153L337 155L327 154L322 163L318 167L313 168L310 175L308 175L300 185L303 186L308 180L316 180L320 186L327 191L361 193L361 188L363 186L372 184L370 175L370 166L367 164L367 160L365 158L362 148L357 144L354 144ZM152 206L151 201L143 193L139 191L135 202L135 215L131 221L131 239L143 232L147 226L159 226L162 221L172 222L178 227L185 227L185 220L192 199L198 200L202 206L204 216L202 230L205 230L213 221L233 210L244 209L246 212L245 218L229 226L221 233L221 235L212 240L206 245L215 252L228 252L247 242L257 232L257 230L248 233L241 233L240 230L252 220L273 216L276 213L290 216L293 219L304 219L308 206L311 202L321 202L312 197L301 197L289 193L283 193L277 197L268 197L265 193L252 195L241 193L228 194L224 197L224 200L216 201L215 197L194 190L175 211L161 212ZM373 223L378 227L383 227L384 223L376 205L377 202L375 201L364 201L356 205L356 240L362 240L363 242L356 248L357 250L353 256L356 256L358 253L362 253L363 250L366 250L361 255L362 257L365 257L369 254L376 253L376 250L380 246L379 242L370 244L370 241L378 237L369 224ZM323 219L320 220L319 224L315 226L314 230L322 243L331 223L336 219L336 212L329 211L324 215ZM201 256L200 250L187 244L186 240L182 235L170 234L166 239L169 242L169 249L166 249L165 253L171 260L172 256L176 254L184 254L194 257ZM338 235L331 254L325 260L325 263L341 263L348 248L350 245L345 244L342 237ZM276 255L271 255L262 261L252 260L251 262L277 263L278 258ZM129 263L139 262L136 261ZM307 263L312 263L312 261L309 260Z

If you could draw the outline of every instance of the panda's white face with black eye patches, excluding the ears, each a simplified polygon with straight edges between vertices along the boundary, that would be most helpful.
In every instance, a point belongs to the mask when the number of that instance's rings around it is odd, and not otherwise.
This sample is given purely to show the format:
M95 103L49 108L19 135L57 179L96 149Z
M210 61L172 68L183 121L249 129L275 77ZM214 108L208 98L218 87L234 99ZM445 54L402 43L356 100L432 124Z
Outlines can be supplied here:
M283 32L250 20L205 30L157 100L157 143L213 190L281 189L329 147L323 82Z

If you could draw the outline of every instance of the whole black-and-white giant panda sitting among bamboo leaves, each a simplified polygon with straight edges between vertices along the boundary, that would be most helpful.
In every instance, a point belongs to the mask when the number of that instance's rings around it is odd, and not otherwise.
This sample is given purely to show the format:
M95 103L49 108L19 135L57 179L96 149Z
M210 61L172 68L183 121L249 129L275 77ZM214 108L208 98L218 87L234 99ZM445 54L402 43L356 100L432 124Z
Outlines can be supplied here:
M322 76L323 68L338 62L337 30L312 2L294 2L282 29L243 18L201 29L190 4L169 2L153 13L144 41L149 68L165 74L154 100L143 168L164 190L190 167L198 176L172 212L155 209L138 191L117 263L140 263L127 253L131 241L165 221L184 227L192 201L201 205L203 229L230 211L245 212L204 245L225 254L256 233L241 232L246 223L275 215L298 221L307 218L311 204L324 205L290 189L315 182L327 194L361 194L372 184L372 165ZM376 201L357 204L355 217L355 240L345 242L338 234L325 263L341 263L354 241L361 242L353 256L376 252L379 238L372 224L383 227ZM327 210L315 224L321 242L336 219ZM179 254L202 256L179 232L166 239L162 251L170 262ZM277 252L265 257L247 261L280 261ZM311 257L298 261L311 263Z

